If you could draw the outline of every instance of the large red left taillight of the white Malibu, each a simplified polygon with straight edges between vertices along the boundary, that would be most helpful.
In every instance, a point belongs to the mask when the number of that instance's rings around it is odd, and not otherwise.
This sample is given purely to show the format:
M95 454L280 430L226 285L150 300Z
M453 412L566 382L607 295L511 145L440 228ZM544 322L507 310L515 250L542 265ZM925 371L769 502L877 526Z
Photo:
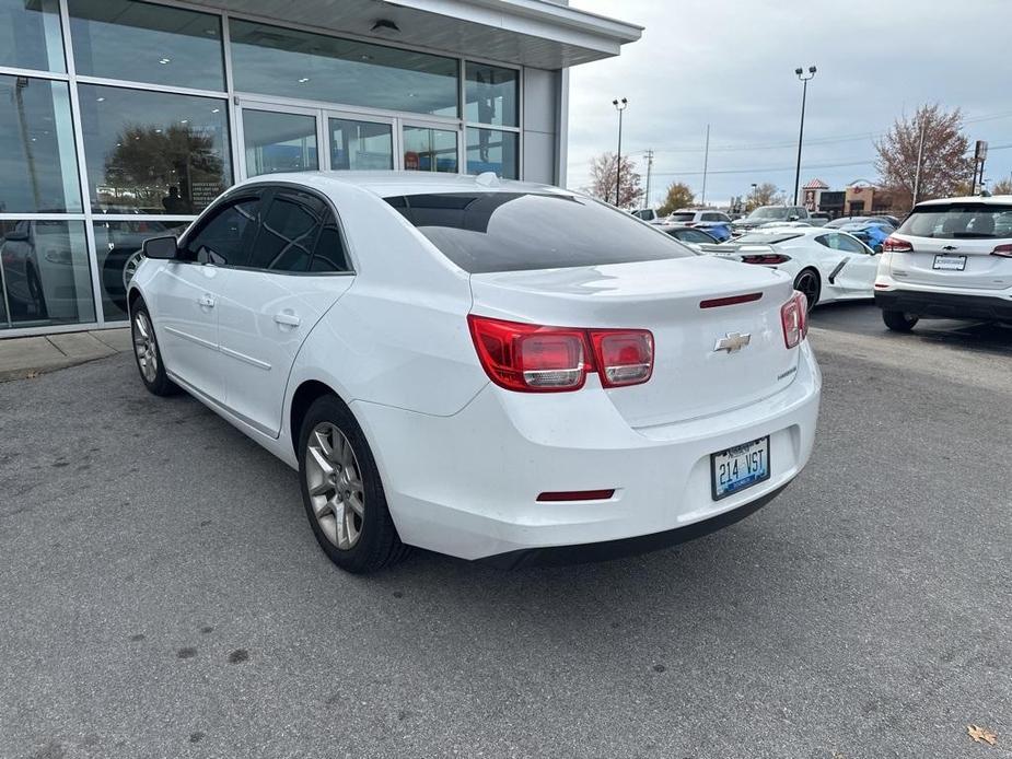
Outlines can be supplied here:
M653 336L645 329L543 327L474 314L467 324L482 369L508 390L579 390L594 371L603 387L623 387L653 372Z

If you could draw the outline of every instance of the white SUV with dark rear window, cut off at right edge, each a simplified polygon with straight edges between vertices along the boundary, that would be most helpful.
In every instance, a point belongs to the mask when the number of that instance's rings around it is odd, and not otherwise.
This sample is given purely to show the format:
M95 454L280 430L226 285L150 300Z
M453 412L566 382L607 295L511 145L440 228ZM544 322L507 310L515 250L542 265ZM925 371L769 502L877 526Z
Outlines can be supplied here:
M1012 323L1012 196L918 203L883 249L875 305L889 329L931 317Z

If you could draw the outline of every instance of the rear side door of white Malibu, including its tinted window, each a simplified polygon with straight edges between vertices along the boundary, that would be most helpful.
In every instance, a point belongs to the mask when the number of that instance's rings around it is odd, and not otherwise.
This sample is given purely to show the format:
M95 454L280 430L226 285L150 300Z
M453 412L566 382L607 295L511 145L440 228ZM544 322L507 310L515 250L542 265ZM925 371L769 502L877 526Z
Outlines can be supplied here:
M352 280L328 201L305 189L271 188L249 260L232 268L218 291L224 402L236 417L279 434L299 349Z

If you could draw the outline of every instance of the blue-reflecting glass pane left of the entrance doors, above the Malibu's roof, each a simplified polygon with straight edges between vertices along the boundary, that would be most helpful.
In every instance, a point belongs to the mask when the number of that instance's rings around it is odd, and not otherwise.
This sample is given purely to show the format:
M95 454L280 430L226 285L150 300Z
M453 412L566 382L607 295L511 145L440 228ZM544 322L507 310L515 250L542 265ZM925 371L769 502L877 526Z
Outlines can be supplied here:
M246 176L319 168L314 116L245 109L243 142Z

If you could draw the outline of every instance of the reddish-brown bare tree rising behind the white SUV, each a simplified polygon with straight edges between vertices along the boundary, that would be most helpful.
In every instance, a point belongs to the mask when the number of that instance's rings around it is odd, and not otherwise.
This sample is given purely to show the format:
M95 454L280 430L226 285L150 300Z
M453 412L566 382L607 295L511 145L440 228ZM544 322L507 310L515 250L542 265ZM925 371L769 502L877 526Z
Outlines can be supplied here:
M922 105L911 118L896 119L885 137L875 143L880 184L893 194L895 208L914 205L915 183L918 200L954 195L974 171L973 159L966 156L968 148L958 108L944 110L938 103Z

